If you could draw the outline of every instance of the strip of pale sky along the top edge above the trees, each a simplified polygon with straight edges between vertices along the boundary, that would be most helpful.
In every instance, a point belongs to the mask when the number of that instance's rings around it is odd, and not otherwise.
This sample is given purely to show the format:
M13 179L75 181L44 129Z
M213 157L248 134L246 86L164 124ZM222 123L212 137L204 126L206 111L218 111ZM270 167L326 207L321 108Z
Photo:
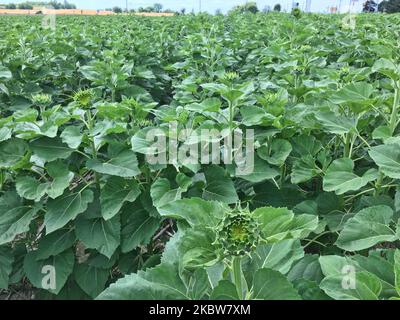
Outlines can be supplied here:
M58 0L61 1L61 0ZM251 0L254 1L254 0ZM24 0L0 0L0 3L18 3ZM126 0L69 0L80 9L105 9L114 6L125 8ZM129 9L137 9L138 7L146 7L153 5L155 2L161 3L164 9L180 10L185 8L190 12L199 11L200 2L202 11L214 13L217 9L222 12L229 11L232 7L243 4L246 0L128 0ZM292 8L292 0L256 0L258 8L261 10L265 6L273 7L280 3L282 8L290 10ZM306 0L295 0L300 3L300 8L304 9ZM350 3L352 11L357 12L362 7L363 0L312 0L311 11L313 12L328 12L329 7L339 7L341 3L341 12L348 12Z

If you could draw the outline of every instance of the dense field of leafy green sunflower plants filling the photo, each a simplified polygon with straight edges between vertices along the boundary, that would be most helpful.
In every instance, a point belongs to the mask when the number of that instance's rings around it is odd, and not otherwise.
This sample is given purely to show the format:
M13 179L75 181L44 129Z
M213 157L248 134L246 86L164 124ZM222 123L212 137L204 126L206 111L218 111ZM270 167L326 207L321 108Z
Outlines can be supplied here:
M2 16L0 289L399 299L399 25L256 13L62 16L52 30ZM254 170L150 163L172 147L146 136L171 123L254 129Z

